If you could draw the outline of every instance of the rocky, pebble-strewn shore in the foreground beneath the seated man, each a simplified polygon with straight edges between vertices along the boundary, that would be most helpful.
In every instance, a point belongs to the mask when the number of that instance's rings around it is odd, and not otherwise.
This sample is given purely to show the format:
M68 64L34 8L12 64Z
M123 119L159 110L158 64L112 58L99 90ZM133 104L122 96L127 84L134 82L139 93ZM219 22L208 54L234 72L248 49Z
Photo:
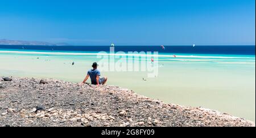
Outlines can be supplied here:
M255 127L243 118L166 104L114 86L0 77L1 127Z

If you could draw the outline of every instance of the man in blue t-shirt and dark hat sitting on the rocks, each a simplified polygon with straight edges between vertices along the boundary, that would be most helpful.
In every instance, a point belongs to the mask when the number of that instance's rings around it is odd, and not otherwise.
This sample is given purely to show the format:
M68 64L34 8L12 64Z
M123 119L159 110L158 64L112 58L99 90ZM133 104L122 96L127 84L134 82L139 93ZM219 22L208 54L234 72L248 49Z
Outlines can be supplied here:
M97 70L98 64L95 62L92 65L93 69L89 70L87 72L87 76L85 77L84 81L82 81L81 84L84 84L88 78L90 77L90 80L92 81L93 85L104 85L106 84L106 81L108 81L108 77L102 77L101 76L101 72L99 70Z

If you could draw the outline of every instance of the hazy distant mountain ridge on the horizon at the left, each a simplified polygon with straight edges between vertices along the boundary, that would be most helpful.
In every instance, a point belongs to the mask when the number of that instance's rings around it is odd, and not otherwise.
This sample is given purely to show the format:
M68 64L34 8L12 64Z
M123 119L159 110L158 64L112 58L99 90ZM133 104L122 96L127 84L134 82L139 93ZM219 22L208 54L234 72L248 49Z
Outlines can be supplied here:
M65 43L61 44L51 44L49 42L40 42L40 41L18 41L18 40L6 40L0 39L0 45L44 45L44 46L63 46L68 45Z

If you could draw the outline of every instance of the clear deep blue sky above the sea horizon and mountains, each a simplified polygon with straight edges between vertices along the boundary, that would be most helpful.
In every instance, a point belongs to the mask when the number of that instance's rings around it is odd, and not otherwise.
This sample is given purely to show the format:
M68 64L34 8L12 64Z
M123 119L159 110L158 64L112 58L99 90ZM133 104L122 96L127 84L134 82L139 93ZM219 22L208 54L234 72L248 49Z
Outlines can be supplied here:
M72 45L255 45L255 0L0 0L0 39Z

